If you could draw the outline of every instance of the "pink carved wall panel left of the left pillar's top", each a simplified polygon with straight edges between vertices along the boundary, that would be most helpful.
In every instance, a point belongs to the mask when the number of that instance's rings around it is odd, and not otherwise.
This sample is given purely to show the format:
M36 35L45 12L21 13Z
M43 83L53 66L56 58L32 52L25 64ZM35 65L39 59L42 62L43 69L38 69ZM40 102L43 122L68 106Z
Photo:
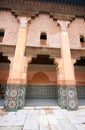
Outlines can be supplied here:
M5 35L1 44L16 45L18 27L17 19L10 11L0 10L0 28L5 30Z

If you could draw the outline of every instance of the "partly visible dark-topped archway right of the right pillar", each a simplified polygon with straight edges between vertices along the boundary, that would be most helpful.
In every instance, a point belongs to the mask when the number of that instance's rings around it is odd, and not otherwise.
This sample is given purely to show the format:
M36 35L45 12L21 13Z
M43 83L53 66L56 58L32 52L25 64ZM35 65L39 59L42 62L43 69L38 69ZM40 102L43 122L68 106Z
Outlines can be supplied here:
M79 105L85 105L85 57L81 57L74 64Z

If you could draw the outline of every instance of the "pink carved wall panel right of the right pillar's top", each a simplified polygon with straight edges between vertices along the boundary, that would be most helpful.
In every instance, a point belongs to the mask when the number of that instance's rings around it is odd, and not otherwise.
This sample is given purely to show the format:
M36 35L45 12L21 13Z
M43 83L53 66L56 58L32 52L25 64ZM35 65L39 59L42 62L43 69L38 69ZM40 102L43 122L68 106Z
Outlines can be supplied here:
M83 18L76 18L69 25L69 39L71 48L81 48L80 35L85 35L85 21Z

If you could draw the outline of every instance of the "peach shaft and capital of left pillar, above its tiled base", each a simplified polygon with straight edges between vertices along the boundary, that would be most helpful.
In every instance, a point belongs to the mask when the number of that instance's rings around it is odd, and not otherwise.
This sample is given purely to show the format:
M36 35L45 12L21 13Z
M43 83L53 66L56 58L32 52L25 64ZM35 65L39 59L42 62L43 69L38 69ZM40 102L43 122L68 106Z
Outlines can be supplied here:
M20 22L20 27L18 32L12 71L9 75L8 83L21 83L22 79L21 75L26 47L27 23L30 19L26 17L18 17L18 19Z

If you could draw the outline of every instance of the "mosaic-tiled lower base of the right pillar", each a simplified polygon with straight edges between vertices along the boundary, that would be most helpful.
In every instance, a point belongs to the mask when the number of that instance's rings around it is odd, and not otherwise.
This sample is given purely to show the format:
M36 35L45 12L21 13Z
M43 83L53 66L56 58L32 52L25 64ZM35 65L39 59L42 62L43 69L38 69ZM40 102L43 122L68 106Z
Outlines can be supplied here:
M59 87L58 88L58 103L62 109L77 110L77 92L76 88Z

